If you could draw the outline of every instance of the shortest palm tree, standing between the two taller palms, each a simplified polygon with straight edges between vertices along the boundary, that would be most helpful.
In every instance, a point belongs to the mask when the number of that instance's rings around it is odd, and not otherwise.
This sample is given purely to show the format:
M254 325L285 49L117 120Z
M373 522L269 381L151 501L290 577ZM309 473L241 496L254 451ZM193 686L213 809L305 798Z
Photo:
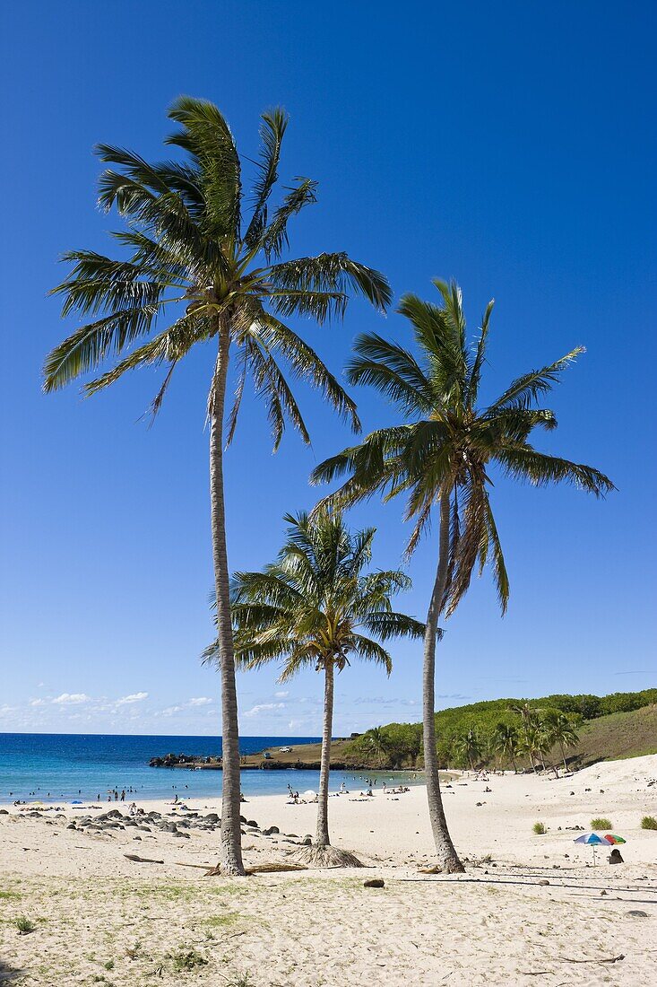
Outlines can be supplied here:
M282 662L280 681L303 668L325 679L324 726L315 846L306 856L316 865L350 865L356 859L330 846L328 771L334 673L351 657L382 665L392 658L380 644L394 637L421 638L424 625L393 610L391 597L410 586L401 571L363 570L372 557L375 529L350 533L339 512L320 510L285 517L287 539L277 561L261 572L233 579L235 653L245 668ZM376 639L376 640L375 640ZM217 645L205 652L212 657Z

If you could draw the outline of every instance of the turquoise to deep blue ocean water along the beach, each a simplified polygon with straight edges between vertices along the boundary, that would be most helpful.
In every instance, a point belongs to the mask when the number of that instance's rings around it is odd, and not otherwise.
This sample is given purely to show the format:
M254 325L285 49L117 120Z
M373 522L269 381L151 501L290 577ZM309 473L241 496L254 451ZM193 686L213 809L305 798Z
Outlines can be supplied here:
M240 737L243 754L265 747L295 747L319 737ZM43 802L108 799L109 790L125 789L126 797L219 797L220 771L150 768L152 757L168 753L221 754L221 738L198 736L123 736L77 733L0 733L0 802L15 799ZM386 773L378 773L388 777ZM397 776L399 782L399 775ZM353 772L331 773L331 789L344 781L364 783ZM276 795L293 789L317 790L319 772L243 771L242 791Z

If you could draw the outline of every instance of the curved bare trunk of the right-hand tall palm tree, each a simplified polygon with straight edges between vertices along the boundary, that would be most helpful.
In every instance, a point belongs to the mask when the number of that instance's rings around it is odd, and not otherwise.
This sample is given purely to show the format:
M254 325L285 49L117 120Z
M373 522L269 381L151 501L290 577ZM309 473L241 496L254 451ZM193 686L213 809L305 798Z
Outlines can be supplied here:
M424 738L424 774L426 777L426 795L429 802L429 819L433 840L436 845L438 866L447 873L461 873L464 866L457 856L452 843L443 799L440 794L440 779L438 776L438 757L436 754L436 721L435 721L435 675L436 675L436 637L438 620L443 609L443 599L447 585L448 556L450 540L450 495L443 493L440 499L440 551L436 580L431 594L431 603L426 618L424 633L424 666L422 672L422 717Z

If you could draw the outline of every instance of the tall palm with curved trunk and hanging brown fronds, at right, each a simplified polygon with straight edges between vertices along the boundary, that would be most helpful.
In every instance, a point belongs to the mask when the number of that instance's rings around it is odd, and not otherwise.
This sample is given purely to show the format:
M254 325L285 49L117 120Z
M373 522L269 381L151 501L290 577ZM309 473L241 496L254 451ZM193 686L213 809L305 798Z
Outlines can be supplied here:
M496 465L513 479L536 486L566 481L589 493L613 485L598 470L539 452L528 441L536 427L551 429L556 419L537 408L561 371L581 352L574 349L541 370L531 370L489 405L477 406L493 303L483 315L474 351L468 343L461 290L436 280L441 303L415 295L401 298L399 312L412 327L417 355L376 334L361 336L348 367L353 384L371 384L397 406L400 424L380 428L316 468L315 483L348 479L328 498L354 503L380 491L386 500L407 495L406 517L415 525L412 552L438 508L438 565L424 638L423 723L429 815L439 866L462 871L449 835L438 779L434 721L435 646L441 616L454 613L468 589L474 566L488 559L502 610L509 582L489 501L489 470Z

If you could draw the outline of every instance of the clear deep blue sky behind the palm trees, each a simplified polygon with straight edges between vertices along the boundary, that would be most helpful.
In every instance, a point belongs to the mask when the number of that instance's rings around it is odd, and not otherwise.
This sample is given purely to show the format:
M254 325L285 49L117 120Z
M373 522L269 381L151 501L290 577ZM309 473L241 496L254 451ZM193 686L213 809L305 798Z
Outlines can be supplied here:
M454 276L473 331L494 296L486 393L587 347L542 447L598 466L619 492L496 484L509 612L500 619L486 575L474 583L440 647L440 705L655 684L655 27L651 3L4 12L0 730L220 728L218 679L197 658L211 636L210 352L177 373L151 429L139 419L154 374L86 402L39 389L45 352L76 325L46 297L58 255L111 249L92 147L160 157L181 93L216 102L251 158L258 114L287 109L282 177L320 183L294 253L347 250L386 271L396 299ZM300 328L335 372L359 332L407 340L399 316L360 303L343 326ZM355 396L367 429L390 420L376 395ZM282 515L314 503L310 470L349 440L316 395L300 397L310 450L289 434L272 457L262 409L245 408L226 467L233 568L271 560ZM352 518L377 525L375 564L397 566L401 503ZM435 555L435 539L422 545L400 600L418 616ZM336 734L419 719L420 648L394 657L390 680L366 666L340 676ZM240 677L243 732L318 732L318 677L275 679Z

